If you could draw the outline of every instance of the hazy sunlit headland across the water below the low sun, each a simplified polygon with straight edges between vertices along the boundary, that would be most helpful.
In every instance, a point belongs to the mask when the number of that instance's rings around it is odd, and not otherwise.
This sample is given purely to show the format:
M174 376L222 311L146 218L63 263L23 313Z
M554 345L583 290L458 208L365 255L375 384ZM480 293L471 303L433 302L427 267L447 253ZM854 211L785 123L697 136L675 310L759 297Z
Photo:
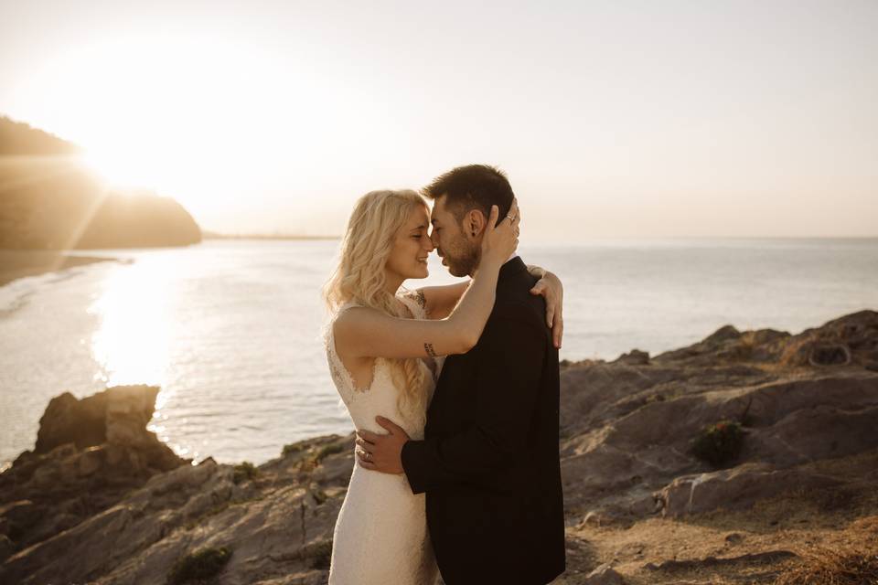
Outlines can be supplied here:
M0 130L0 248L146 248L201 241L195 219L174 199L107 191L70 154L78 150L75 144L5 118Z

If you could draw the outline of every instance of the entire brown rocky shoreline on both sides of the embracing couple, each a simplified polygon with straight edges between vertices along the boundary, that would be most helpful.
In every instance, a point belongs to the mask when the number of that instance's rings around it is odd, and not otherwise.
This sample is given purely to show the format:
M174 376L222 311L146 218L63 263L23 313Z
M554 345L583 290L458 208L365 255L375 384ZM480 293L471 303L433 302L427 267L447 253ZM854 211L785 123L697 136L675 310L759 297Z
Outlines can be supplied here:
M49 402L0 473L0 582L198 582L214 558L214 583L326 583L353 434L193 465L146 430L157 392ZM561 418L555 583L878 579L878 313L565 363Z

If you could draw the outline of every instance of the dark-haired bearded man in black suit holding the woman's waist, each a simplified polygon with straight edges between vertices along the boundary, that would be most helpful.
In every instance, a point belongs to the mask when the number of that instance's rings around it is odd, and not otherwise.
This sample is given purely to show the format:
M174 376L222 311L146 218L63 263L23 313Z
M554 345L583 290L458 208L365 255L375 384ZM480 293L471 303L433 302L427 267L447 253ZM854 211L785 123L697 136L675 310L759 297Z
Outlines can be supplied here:
M431 237L443 264L472 275L491 205L500 218L509 213L509 181L491 166L461 166L424 195L434 199ZM381 417L390 434L358 433L360 465L405 473L414 494L426 492L447 585L541 585L564 570L558 350L543 298L529 293L535 281L517 255L500 269L478 343L445 359L423 441Z

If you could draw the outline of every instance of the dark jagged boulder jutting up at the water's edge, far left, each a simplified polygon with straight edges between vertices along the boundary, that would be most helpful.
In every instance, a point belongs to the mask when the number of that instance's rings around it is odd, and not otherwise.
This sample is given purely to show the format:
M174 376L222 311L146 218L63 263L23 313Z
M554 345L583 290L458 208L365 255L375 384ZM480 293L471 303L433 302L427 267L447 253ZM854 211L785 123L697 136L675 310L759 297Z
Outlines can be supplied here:
M120 386L81 400L65 392L49 402L34 451L0 474L0 534L7 546L54 537L155 474L190 463L145 428L157 393Z

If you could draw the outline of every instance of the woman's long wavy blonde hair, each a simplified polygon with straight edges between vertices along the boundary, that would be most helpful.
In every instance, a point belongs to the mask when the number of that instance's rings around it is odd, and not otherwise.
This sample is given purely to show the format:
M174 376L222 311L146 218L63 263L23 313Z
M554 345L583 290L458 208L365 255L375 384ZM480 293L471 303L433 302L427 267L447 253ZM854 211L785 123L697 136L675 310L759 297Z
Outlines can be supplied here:
M323 287L330 314L348 301L371 307L394 317L410 318L395 295L384 290L384 267L397 232L417 207L426 201L409 189L371 191L359 197L339 245L338 263ZM331 326L331 325L330 325ZM409 410L420 422L426 416L429 374L418 358L387 358L393 384L399 391L397 406Z

